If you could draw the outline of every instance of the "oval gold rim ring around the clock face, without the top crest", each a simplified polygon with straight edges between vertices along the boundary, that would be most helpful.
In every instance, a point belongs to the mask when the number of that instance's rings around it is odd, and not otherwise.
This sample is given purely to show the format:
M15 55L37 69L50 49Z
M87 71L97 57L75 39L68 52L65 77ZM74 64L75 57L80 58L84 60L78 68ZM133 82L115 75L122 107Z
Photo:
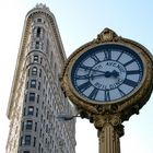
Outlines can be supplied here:
M101 46L101 45L120 45L123 47L127 47L133 52L136 52L143 63L143 76L140 82L140 84L127 96L121 97L117 101L113 101L110 103L104 102L104 103L97 103L95 101L90 101L85 98L84 96L80 95L78 91L75 91L73 84L71 83L71 70L72 66L74 64L75 60L83 55L86 50L90 50L94 47ZM79 49L76 49L67 60L67 63L64 66L64 69L61 74L61 85L70 101L76 105L78 108L83 108L87 111L92 111L94 114L99 114L107 111L108 109L111 109L111 106L117 106L116 110L113 111L122 111L125 109L132 109L133 106L139 105L138 107L142 107L149 96L152 92L153 86L153 59L152 55L148 51L146 48L144 48L142 45L140 45L137 42L119 37L117 40L99 40L94 39L83 46L81 46ZM101 107L101 110L97 108ZM111 111L111 110L110 110Z

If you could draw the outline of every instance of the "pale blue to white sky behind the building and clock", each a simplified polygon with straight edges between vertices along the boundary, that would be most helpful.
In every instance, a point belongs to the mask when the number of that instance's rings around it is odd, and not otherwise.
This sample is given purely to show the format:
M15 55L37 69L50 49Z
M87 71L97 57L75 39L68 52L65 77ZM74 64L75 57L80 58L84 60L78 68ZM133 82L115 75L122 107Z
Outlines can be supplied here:
M0 152L9 134L7 106L24 19L36 3L55 14L67 56L96 38L105 27L133 39L153 54L152 0L2 0L0 3ZM153 153L153 95L129 121L123 122L121 153ZM98 153L97 131L86 119L76 121L76 153Z

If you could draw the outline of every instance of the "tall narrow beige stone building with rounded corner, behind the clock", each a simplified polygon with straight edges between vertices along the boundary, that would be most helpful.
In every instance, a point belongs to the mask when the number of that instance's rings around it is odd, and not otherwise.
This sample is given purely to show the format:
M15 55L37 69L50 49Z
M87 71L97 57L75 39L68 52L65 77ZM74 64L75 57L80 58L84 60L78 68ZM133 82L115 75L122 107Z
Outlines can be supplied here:
M26 17L8 105L7 153L74 153L74 107L60 86L66 54L54 14L37 4Z

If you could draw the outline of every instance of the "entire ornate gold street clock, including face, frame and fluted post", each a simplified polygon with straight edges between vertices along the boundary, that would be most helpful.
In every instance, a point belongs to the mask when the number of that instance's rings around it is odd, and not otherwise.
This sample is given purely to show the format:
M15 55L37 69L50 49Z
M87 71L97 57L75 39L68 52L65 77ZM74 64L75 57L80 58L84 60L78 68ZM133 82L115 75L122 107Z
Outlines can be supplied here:
M153 58L142 45L105 28L69 57L61 84L98 130L99 153L120 153L121 123L151 96Z

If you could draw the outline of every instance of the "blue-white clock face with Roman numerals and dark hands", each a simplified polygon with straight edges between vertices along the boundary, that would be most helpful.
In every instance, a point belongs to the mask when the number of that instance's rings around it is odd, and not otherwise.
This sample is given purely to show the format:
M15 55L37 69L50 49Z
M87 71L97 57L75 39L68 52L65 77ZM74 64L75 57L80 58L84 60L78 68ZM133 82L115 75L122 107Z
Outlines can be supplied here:
M143 79L143 62L131 48L104 44L83 52L71 68L71 83L89 103L114 103L133 94Z

